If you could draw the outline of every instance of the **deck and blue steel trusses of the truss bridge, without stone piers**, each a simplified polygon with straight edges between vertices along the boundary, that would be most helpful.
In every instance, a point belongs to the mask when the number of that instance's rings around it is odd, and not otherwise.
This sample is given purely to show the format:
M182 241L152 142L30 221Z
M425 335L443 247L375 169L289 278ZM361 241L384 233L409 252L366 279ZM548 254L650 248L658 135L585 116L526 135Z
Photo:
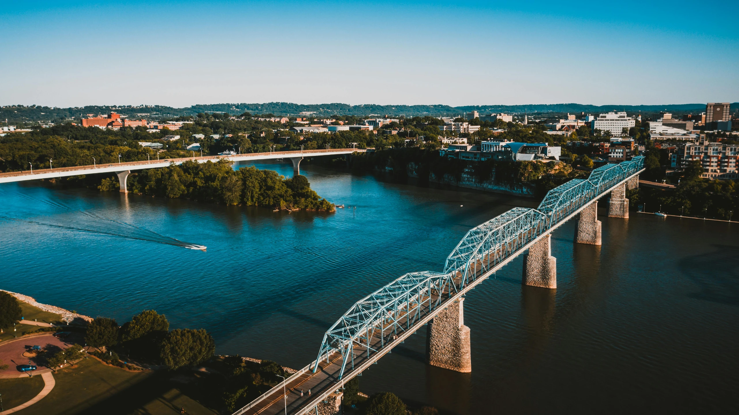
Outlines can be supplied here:
M473 228L447 258L445 273L409 273L355 303L342 317L346 326L354 329L353 335L336 336L331 340L330 335L338 332L335 329L337 325L340 326L342 319L337 321L324 336L317 360L239 409L234 415L318 415L318 405L327 402L327 398L343 388L345 382L361 374L385 354L391 353L393 347L429 323L450 303L459 300L477 284L573 219L591 203L638 178L641 171L643 157L635 157L633 162L624 162L621 165L606 165L593 171L588 180L575 179L553 189L538 209L516 207ZM526 215L535 215L538 219L522 221ZM517 228L513 227L514 224ZM497 242L489 245L490 249L481 253L479 250L484 244L478 241L477 254L464 256L467 259L462 266L458 261L452 261L463 252L460 247L466 244L471 234L475 230L484 229L486 225L488 230L485 240L494 239L498 231L507 236L505 239L497 239ZM514 232L511 229L515 229ZM401 287L403 281L409 281L406 287L411 287L418 281L420 283L407 289L402 295L396 295L395 303L386 306L393 301L390 298L392 290L389 288ZM353 310L361 309L362 305L366 309L371 308L370 298L375 301L371 312L353 313ZM380 300L376 300L377 298ZM377 303L383 301L385 305L377 306ZM362 317L364 322L361 321ZM336 339L343 339L343 343ZM308 389L311 391L310 397L307 395Z

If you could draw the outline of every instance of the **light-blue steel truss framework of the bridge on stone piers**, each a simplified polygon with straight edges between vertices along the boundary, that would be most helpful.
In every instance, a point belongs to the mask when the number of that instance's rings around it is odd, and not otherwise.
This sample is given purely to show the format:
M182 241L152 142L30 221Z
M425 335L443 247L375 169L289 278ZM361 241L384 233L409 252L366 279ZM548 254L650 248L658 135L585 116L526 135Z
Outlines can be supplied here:
M321 360L340 352L341 371L353 362L355 348L364 348L367 357L386 346L386 333L405 332L413 324L435 312L446 299L494 267L518 255L539 236L598 199L619 182L637 174L644 157L634 157L618 165L596 168L585 179L573 179L547 193L537 209L514 207L469 230L446 258L443 272L410 272L357 301L324 335L313 372ZM370 339L380 334L380 343Z

